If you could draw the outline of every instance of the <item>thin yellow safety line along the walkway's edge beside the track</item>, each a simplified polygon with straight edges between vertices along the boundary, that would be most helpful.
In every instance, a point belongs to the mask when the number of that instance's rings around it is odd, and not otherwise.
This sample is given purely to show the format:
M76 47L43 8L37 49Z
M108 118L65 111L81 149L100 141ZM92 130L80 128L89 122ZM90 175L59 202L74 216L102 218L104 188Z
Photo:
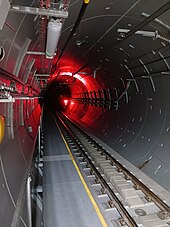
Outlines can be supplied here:
M108 225L107 225L102 213L100 212L100 209L98 208L98 206L97 206L97 204L96 204L96 202L95 202L95 200L94 200L94 198L93 198L93 196L92 196L92 194L91 194L91 192L90 192L90 190L89 190L89 188L88 188L88 186L87 186L87 184L86 184L86 182L85 182L85 180L84 180L84 178L83 178L83 176L82 176L82 174L80 172L80 169L79 169L79 167L78 167L78 165L77 165L77 163L76 163L76 161L75 161L75 159L74 159L74 157L73 157L73 155L71 153L71 150L70 150L70 148L69 148L69 146L67 144L67 141L65 140L64 135L63 135L63 133L62 133L62 131L61 131L61 129L60 129L58 124L57 124L57 127L58 127L58 130L59 130L59 132L61 134L61 137L62 137L62 139L63 139L63 141L64 141L64 143L66 145L66 148L67 148L67 150L69 152L69 155L70 155L71 160L72 160L72 162L74 164L74 167L77 170L77 173L78 173L78 175L79 175L79 177L81 179L81 182L82 182L82 184L83 184L83 186L84 186L84 188L85 188L85 190L87 192L87 195L89 196L89 198L90 198L90 200L91 200L91 202L93 204L94 209L96 210L96 213L97 213L97 215L98 215L103 227L108 227Z

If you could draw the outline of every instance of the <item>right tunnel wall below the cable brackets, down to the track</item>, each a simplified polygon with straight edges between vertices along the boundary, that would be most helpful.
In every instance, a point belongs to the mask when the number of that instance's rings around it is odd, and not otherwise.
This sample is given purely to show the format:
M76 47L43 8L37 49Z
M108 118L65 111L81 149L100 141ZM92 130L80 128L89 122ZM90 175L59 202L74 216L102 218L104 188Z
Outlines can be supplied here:
M169 82L168 75L154 78L154 92L149 81L138 81L140 91L136 92L132 85L128 90L129 102L126 103L124 96L118 110L75 102L66 111L168 190Z

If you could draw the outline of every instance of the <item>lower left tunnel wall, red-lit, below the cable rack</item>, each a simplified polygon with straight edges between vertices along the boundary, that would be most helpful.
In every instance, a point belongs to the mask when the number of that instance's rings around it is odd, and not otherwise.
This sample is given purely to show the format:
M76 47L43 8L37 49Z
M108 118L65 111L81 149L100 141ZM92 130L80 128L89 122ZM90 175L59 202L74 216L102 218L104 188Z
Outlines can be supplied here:
M0 144L0 226L25 226L28 223L24 202L26 180L41 107L38 99L16 100L15 103L0 103L0 113L5 116L5 135ZM17 206L20 203L23 210L19 214Z

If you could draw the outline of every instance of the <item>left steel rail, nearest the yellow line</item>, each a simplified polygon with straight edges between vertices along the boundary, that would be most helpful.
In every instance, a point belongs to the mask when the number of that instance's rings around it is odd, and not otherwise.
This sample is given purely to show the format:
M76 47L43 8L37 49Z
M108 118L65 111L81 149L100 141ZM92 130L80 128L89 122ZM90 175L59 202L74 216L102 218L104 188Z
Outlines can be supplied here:
M61 119L61 117L58 116L58 119L60 120L60 123L63 126L63 129L65 132L67 132L74 142L75 146L77 147L78 151L81 152L83 155L83 158L87 161L88 165L91 167L92 171L94 172L97 179L100 181L100 184L104 188L105 192L109 195L111 202L116 207L117 211L123 218L123 221L129 226L129 227L138 227L135 220L132 218L132 216L128 213L124 205L121 203L121 201L118 199L116 194L113 192L113 190L110 188L110 186L107 184L105 179L101 176L100 172L96 169L95 165L92 163L86 152L88 151L84 146L82 147L82 144L80 145L78 141L78 137L74 134L74 132L70 129L68 125L64 123L64 121Z

